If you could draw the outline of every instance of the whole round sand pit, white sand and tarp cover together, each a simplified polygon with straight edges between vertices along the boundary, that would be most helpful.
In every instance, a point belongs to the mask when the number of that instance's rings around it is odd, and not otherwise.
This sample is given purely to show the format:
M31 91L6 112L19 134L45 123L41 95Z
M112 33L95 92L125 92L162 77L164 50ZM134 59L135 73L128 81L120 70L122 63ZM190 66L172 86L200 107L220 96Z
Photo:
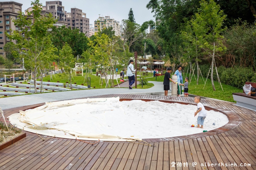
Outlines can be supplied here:
M201 133L228 123L226 115L207 111L204 129L197 125L197 106L116 98L47 102L9 116L11 124L41 135L70 139L125 141ZM213 125L215 123L215 125Z

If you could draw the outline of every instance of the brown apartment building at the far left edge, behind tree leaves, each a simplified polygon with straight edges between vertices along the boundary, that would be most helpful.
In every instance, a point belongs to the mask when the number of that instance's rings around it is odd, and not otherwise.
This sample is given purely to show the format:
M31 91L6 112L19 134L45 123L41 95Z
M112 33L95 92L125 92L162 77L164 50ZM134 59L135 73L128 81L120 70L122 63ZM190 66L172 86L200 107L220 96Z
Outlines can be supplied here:
M2 49L6 43L10 41L16 43L15 40L10 40L5 35L5 31L10 34L10 29L19 29L12 22L12 20L17 19L18 12L22 12L22 4L13 1L0 3L0 55L5 55Z

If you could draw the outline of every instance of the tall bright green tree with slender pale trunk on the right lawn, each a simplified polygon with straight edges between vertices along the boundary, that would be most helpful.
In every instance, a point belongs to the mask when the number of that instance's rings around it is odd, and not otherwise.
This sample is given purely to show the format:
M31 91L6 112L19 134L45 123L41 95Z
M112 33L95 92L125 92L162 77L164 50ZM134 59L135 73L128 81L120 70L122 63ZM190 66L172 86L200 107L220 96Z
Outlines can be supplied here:
M209 2L202 0L200 2L198 13L191 19L191 27L195 32L196 41L200 43L200 48L205 51L205 54L210 56L211 61L211 84L215 91L213 82L213 68L215 65L215 56L217 53L225 51L226 47L223 45L223 36L221 33L223 29L226 15L220 10L220 6L209 0Z

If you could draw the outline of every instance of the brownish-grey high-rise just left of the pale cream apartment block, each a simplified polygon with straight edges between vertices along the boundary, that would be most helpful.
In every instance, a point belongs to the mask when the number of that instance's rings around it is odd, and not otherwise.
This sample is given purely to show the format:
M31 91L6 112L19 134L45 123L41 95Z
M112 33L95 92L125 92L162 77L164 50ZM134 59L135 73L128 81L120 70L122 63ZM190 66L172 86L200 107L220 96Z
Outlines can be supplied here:
M68 27L71 29L79 29L80 32L90 36L89 18L86 18L86 13L81 9L71 8L71 12L67 13Z

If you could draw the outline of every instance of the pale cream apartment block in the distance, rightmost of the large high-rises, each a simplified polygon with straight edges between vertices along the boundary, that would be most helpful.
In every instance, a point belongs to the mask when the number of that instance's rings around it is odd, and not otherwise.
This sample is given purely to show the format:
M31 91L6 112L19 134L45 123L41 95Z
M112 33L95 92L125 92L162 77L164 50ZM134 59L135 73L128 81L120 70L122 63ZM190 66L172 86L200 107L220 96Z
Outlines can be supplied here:
M100 28L98 28L98 24L100 25ZM119 21L116 21L113 18L110 18L109 16L105 16L105 18L99 17L99 23L97 21L94 21L94 32L98 32L103 28L110 28L110 27L112 27L113 31L115 31L116 36L121 36Z

